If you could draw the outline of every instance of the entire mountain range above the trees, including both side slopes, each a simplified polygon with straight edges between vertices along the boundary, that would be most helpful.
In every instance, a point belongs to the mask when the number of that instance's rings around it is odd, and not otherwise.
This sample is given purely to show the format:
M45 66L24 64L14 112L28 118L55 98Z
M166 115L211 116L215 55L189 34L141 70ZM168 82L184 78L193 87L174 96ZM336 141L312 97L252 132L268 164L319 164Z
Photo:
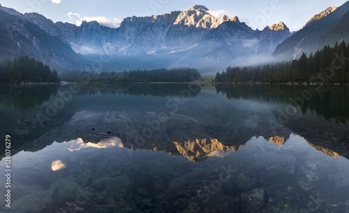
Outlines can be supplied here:
M236 16L214 17L200 5L163 15L126 17L116 29L96 21L84 21L80 26L54 23L38 13L22 14L0 5L0 57L13 59L28 54L55 68L76 69L96 69L97 61L101 64L99 71L225 67L244 57L273 52L284 58L295 57L298 52L346 38L337 34L346 34L346 28L338 24L346 21L348 10L348 3L329 8L291 35L283 22L254 30ZM334 29L336 36L330 33ZM320 32L314 43L313 34Z

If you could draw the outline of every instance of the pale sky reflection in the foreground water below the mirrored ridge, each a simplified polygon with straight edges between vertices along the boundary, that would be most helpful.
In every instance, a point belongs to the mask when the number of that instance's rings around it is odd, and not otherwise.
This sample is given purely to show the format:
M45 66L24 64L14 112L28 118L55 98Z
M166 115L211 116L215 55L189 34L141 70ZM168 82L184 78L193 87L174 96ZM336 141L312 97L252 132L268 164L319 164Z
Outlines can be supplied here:
M114 206L103 212L177 212L189 210L191 203L202 212L285 212L286 204L295 212L345 212L349 206L348 160L332 160L298 135L282 146L253 137L236 151L209 152L201 163L112 141L120 140L105 138L82 148L77 138L13 156L11 210L34 212L56 199L91 212L101 212L94 206L102 205ZM52 169L51 162L59 169ZM80 202L81 193L88 202Z

